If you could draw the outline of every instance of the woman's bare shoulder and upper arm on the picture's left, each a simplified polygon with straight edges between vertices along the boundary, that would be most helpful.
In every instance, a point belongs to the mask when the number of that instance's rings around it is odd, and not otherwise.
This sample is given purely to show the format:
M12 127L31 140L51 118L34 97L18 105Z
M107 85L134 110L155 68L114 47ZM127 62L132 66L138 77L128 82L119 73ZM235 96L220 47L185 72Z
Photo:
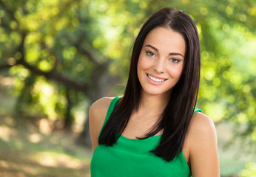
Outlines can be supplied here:
M114 97L103 97L95 101L95 103L92 103L92 105L90 106L89 123L93 150L95 150L98 145L98 135L104 124L107 110L113 98Z

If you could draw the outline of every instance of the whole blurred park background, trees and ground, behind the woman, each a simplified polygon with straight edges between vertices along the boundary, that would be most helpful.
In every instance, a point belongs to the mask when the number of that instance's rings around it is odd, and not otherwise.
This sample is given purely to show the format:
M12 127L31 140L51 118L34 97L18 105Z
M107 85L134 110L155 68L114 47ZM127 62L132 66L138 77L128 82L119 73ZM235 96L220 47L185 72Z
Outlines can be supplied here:
M0 176L90 176L88 108L123 93L141 24L167 6L198 27L221 176L256 176L254 0L0 0Z

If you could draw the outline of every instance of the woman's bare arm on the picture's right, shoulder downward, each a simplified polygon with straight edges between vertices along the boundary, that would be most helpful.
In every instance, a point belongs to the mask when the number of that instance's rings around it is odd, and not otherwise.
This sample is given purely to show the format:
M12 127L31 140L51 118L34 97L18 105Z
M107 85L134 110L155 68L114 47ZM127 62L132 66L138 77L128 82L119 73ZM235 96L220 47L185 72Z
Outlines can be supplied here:
M189 160L193 177L219 177L218 142L212 119L195 113L188 131Z

